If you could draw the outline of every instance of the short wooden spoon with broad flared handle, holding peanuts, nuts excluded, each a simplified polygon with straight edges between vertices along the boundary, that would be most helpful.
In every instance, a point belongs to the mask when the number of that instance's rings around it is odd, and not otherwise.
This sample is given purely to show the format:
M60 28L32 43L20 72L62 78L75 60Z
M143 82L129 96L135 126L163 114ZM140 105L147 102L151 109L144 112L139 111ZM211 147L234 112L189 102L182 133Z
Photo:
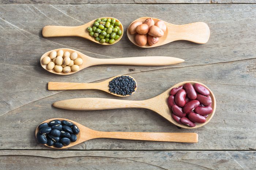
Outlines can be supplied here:
M136 19L135 21L144 22L147 18L150 18L150 17L142 17L142 18ZM157 23L160 20L157 18L152 18L152 19L154 20L155 23ZM127 36L133 44L143 48L157 47L157 46L165 45L167 43L177 41L177 40L188 40L191 42L204 44L204 43L207 43L210 37L210 29L208 25L204 22L195 22L195 23L190 23L185 25L174 25L167 22L165 22L165 24L167 27L165 34L162 37L160 37L159 41L152 46L150 46L148 43L145 46L139 46L135 40L136 34L132 35L129 31L130 25L127 29Z

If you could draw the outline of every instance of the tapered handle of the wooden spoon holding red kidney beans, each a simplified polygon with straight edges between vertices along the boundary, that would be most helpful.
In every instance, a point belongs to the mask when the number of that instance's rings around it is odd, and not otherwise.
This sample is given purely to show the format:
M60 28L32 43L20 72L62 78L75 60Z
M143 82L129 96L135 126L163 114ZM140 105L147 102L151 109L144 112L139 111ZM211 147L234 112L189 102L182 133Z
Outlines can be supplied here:
M104 110L118 108L146 108L142 101L117 100L110 98L73 98L56 101L54 107L69 110Z

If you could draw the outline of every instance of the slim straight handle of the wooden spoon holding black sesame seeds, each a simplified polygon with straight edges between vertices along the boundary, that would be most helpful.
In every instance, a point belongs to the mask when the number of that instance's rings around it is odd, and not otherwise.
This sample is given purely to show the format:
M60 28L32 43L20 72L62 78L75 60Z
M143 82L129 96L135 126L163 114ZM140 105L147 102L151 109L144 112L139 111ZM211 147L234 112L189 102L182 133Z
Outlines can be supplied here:
M98 83L48 82L48 90L99 89Z

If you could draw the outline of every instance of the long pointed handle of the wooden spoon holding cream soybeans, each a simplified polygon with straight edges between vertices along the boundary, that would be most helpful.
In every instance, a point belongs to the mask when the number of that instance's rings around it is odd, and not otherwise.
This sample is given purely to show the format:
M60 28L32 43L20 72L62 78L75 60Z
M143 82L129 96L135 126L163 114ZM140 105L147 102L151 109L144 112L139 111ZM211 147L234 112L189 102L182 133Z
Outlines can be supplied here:
M118 64L118 65L137 65L137 66L166 66L184 62L183 59L175 57L149 56L149 57L127 57L95 59L94 65Z

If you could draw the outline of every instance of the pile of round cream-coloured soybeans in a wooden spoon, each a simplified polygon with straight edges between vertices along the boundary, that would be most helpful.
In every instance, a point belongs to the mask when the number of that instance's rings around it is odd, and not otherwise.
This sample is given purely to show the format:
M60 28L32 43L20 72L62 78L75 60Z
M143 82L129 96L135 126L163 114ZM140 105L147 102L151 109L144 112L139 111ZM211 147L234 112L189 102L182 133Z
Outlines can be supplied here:
M83 63L82 58L78 58L76 52L69 53L68 51L52 51L49 56L42 59L42 64L47 65L48 70L54 69L56 72L69 73L79 70L79 65Z

